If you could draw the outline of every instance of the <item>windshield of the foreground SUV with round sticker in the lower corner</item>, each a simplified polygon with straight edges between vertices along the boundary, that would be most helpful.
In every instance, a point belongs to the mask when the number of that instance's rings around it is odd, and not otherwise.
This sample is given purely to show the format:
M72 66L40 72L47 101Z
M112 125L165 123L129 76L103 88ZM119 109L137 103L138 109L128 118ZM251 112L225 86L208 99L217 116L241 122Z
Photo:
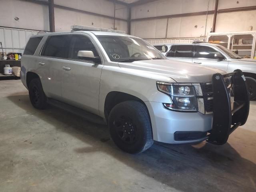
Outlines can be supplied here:
M152 45L139 38L128 36L97 36L111 61L167 59Z

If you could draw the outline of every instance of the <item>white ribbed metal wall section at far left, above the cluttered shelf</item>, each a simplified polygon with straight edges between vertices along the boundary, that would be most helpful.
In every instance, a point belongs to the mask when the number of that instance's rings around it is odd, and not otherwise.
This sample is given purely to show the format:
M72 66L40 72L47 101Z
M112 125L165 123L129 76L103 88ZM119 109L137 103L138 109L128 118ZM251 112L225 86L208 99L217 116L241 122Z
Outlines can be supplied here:
M0 42L2 42L4 52L23 54L29 38L36 34L38 31L0 27Z

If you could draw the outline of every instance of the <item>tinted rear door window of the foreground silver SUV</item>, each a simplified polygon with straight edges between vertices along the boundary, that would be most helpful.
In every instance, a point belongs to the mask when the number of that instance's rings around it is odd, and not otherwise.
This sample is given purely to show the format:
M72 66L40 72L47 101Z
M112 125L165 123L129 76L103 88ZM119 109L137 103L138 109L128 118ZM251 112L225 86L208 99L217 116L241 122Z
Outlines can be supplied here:
M41 56L68 58L71 35L50 36L46 40Z

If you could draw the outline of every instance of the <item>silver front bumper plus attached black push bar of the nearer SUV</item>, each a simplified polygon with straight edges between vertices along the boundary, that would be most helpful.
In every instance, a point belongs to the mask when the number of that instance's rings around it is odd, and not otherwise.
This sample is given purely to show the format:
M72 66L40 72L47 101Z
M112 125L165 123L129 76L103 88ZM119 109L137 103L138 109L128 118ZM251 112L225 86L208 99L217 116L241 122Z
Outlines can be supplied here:
M225 79L231 83L226 84ZM238 126L245 124L249 114L249 93L241 70L212 76L213 113L176 112L159 102L145 102L156 141L181 144L206 140L225 144Z

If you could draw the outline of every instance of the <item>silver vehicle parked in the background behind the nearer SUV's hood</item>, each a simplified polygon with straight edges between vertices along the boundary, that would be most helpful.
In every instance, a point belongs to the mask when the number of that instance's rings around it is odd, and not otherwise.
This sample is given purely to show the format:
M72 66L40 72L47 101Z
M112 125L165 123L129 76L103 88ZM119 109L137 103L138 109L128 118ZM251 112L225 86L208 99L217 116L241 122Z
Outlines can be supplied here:
M193 42L188 44L154 44L168 59L215 67L233 72L242 70L248 85L250 100L256 98L256 60L242 58L218 44Z

